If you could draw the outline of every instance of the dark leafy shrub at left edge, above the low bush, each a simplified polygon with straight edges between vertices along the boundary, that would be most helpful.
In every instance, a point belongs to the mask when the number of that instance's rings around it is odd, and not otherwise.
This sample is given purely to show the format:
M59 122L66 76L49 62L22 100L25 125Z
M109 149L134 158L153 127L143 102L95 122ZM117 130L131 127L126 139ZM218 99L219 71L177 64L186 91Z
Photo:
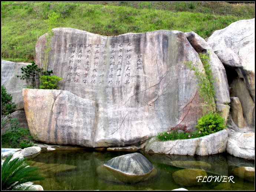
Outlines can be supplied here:
M11 113L17 108L12 98L12 95L7 93L6 87L1 85L1 129L12 119Z

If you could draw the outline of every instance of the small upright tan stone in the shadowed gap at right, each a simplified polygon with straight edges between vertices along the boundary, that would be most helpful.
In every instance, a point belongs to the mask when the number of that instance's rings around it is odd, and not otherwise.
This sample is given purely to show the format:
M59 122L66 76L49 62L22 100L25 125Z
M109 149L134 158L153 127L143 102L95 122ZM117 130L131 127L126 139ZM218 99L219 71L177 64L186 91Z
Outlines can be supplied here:
M231 115L234 123L239 127L244 127L243 109L238 97L230 97Z

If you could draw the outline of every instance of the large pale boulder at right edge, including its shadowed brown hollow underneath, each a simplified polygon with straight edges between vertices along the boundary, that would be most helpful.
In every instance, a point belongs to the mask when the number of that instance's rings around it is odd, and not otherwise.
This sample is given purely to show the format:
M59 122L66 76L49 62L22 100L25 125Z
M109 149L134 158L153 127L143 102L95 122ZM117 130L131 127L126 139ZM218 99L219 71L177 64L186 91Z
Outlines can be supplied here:
M225 65L230 96L239 97L246 124L255 126L255 18L214 31L207 43Z

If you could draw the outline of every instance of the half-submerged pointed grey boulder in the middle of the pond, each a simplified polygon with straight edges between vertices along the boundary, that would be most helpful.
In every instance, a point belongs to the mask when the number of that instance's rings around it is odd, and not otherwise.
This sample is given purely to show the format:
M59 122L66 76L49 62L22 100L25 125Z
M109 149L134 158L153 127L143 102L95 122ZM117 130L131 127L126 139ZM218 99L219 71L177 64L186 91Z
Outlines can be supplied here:
M101 179L113 182L137 183L155 175L157 170L140 153L112 158L96 169Z

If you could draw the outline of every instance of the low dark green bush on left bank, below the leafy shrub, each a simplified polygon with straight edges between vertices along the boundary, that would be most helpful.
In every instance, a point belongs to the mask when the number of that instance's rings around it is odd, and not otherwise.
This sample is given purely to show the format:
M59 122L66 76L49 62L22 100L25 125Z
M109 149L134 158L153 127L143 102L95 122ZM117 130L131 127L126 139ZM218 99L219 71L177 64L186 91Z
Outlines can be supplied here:
M11 129L2 134L2 148L27 148L34 146L33 137L30 135L29 129L18 127L18 120L11 120Z

